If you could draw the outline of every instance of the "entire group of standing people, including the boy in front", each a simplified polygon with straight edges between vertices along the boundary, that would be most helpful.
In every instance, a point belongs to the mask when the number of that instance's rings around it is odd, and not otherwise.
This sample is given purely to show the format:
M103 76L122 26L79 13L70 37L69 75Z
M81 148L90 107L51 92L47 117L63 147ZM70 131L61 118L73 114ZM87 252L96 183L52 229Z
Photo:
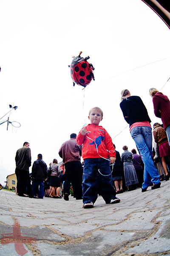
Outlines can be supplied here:
M148 186L158 189L162 180L169 180L170 166L170 101L156 88L149 90L153 98L154 113L161 118L162 125L152 128L147 109L139 96L131 96L129 90L122 90L120 108L130 127L130 134L136 143L136 149L128 151L123 146L120 156L111 136L99 123L103 112L95 107L89 111L90 124L77 134L71 134L59 149L64 170L60 169L57 159L49 168L38 154L32 166L29 143L16 152L17 193L29 198L64 198L69 200L71 186L76 200L83 201L83 208L93 208L98 195L106 204L119 203L120 194L137 187L146 192ZM83 163L81 163L81 157ZM31 184L32 180L32 184Z

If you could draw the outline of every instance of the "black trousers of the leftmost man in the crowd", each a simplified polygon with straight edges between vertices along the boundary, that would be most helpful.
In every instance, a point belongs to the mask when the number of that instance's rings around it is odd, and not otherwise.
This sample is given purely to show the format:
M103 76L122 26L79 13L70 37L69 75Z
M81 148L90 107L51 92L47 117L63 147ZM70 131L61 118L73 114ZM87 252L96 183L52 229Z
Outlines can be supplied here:
M18 189L19 195L23 195L26 192L26 188L28 191L28 195L32 196L32 189L31 189L31 180L29 176L29 171L19 170L18 169ZM26 186L26 187L25 187Z

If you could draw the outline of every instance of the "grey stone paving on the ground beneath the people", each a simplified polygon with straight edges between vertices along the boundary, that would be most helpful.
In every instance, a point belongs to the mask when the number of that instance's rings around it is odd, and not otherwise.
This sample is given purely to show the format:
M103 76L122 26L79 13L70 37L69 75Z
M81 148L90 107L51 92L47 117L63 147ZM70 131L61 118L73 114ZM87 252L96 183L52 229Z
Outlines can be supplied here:
M23 198L0 191L0 256L170 256L170 181L119 204Z

